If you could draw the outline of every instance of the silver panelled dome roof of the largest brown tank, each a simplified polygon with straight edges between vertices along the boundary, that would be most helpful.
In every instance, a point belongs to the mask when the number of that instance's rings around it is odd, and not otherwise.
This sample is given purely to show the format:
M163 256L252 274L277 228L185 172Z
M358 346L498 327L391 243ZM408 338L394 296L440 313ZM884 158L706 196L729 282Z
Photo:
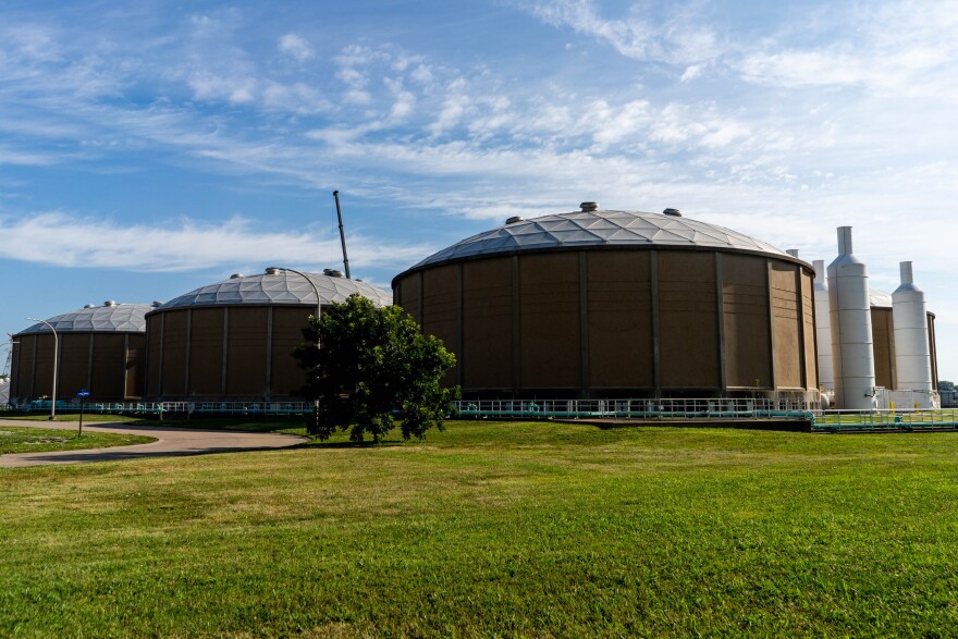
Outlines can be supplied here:
M582 210L513 221L444 248L410 270L462 258L593 246L709 247L796 259L771 244L723 226L680 217L677 211L662 214Z

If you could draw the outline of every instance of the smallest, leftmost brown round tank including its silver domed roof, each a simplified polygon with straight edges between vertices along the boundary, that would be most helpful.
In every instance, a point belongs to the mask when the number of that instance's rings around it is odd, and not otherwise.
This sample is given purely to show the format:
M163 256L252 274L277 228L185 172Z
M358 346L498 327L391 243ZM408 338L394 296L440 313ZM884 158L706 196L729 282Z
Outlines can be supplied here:
M57 398L69 401L81 390L91 402L143 397L146 304L88 305L47 321L57 330L60 358ZM53 391L53 332L37 322L13 336L10 397L25 403Z

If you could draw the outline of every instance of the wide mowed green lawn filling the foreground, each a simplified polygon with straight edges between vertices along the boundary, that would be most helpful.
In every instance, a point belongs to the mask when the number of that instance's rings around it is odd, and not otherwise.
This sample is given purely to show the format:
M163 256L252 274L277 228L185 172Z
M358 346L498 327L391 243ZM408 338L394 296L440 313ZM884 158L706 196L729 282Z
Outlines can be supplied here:
M0 470L2 636L954 636L958 434L454 422Z

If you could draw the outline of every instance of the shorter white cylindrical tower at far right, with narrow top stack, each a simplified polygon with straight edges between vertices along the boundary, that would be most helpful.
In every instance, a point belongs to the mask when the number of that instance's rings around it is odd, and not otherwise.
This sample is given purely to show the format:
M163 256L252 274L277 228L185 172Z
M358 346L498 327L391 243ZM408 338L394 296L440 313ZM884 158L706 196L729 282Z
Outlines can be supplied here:
M924 291L914 285L910 261L901 262L900 268L901 285L892 294L898 390L931 395L934 384Z

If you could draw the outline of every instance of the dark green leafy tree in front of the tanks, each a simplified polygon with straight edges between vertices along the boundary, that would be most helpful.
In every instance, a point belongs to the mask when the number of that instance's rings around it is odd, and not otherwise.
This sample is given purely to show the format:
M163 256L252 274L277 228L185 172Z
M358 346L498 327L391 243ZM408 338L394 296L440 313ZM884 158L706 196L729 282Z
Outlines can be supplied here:
M378 308L352 295L309 318L303 336L293 356L308 371L304 395L317 402L310 434L327 440L349 429L354 442L369 434L378 443L396 421L407 440L422 439L433 426L444 429L459 389L441 380L455 356L398 306Z

